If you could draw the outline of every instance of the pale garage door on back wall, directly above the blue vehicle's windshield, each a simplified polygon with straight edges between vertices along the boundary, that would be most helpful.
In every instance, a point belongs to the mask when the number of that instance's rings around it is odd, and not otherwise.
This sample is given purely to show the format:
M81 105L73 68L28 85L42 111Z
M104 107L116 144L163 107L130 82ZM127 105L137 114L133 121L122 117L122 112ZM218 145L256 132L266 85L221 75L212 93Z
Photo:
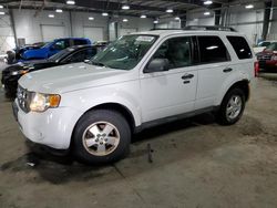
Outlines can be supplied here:
M41 24L41 33L43 41L52 41L53 39L65 38L65 29L63 25L43 25Z

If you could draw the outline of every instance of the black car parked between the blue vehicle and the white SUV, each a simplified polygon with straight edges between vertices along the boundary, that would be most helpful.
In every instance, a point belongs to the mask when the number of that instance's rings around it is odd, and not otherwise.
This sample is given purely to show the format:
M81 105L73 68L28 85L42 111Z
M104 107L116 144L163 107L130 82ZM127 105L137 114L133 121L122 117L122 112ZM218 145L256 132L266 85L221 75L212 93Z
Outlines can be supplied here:
M52 55L48 60L29 61L10 65L2 71L2 86L6 94L13 97L17 94L18 80L23 74L57 65L83 62L90 60L104 48L105 44L71 46Z

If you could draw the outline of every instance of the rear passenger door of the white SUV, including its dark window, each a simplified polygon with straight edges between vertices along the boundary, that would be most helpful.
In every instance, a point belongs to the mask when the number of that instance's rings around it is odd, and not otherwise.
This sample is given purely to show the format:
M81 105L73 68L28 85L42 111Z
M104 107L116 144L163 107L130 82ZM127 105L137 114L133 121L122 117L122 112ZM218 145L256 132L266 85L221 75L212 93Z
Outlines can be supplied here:
M195 110L213 106L225 80L234 73L227 45L218 35L198 35L198 85Z

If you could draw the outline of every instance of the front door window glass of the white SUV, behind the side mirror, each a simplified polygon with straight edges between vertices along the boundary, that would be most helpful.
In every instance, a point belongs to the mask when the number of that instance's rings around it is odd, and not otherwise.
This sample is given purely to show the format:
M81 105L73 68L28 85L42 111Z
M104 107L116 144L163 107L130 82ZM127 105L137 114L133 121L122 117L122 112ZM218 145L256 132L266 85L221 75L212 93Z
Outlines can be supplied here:
M170 69L192 65L192 40L189 37L166 40L153 59L167 59Z

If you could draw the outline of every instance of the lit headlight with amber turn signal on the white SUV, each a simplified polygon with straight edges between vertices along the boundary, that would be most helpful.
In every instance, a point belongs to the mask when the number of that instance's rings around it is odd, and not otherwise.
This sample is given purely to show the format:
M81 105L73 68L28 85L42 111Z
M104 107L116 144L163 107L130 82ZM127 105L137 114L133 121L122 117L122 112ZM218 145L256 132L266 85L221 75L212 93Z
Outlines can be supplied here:
M58 107L61 96L57 94L33 93L31 96L30 110L32 112L44 112L50 107Z

